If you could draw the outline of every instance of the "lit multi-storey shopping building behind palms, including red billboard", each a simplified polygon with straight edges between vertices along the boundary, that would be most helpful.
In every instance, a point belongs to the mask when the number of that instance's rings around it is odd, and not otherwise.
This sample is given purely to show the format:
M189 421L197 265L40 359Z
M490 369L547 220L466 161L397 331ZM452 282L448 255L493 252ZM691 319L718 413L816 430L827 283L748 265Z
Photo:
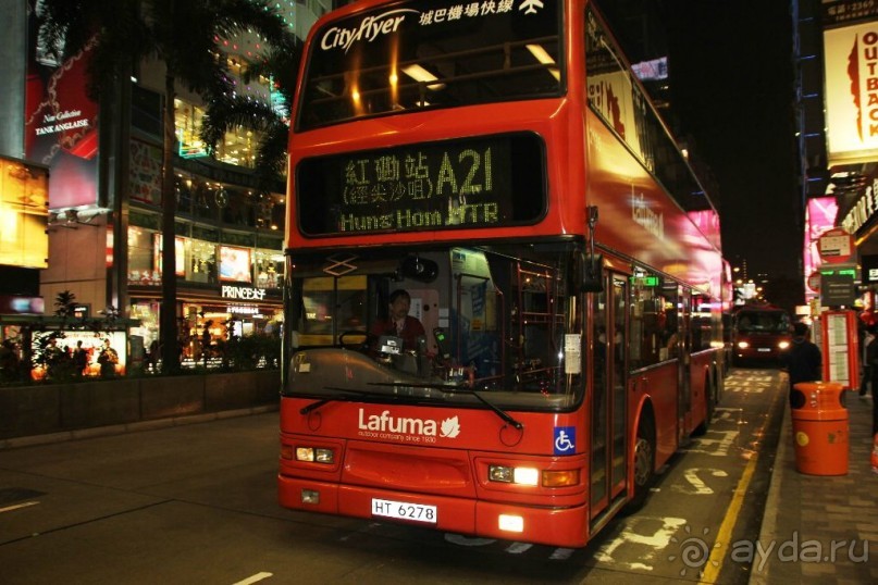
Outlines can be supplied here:
M37 3L0 0L4 14L21 23L9 27L0 46L20 79L0 89L0 154L49 170L42 220L49 252L38 266L0 259L0 297L41 297L51 315L57 296L72 291L85 314L112 307L121 318L138 320L128 333L148 348L158 339L161 310L163 70L141 63L129 83L90 100L88 51L53 62L34 40ZM332 4L282 0L277 8L304 39ZM218 58L227 60L239 95L276 104L270 79L245 84L240 76L257 43L247 35L227 39ZM207 157L198 137L203 103L183 88L177 92L173 310L181 332L206 340L205 332L218 338L271 329L281 313L284 183L259 186L253 166L260 136L246 128L230 132L215 157Z

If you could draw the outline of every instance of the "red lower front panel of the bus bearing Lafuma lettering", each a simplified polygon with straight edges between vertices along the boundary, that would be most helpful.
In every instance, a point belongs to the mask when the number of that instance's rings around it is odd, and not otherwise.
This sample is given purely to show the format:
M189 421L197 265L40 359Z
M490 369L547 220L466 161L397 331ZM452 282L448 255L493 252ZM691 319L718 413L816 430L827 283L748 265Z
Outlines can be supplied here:
M302 446L327 448L336 459L330 465L282 457L282 506L372 518L372 499L379 498L436 506L437 520L431 526L438 530L514 538L515 534L498 528L498 515L517 514L523 518L528 542L567 546L588 542L588 437L576 437L578 455L553 455L553 428L576 425L577 414L514 413L523 424L517 431L483 410L330 402L301 414L299 410L311 402L282 400L282 452ZM456 419L460 431L455 437L443 437L363 428L371 416L380 421L383 414L385 421L397 422L441 424ZM297 433L300 428L309 428L310 434ZM577 471L579 483L547 488L489 482L490 464ZM319 491L320 502L304 503L302 489Z

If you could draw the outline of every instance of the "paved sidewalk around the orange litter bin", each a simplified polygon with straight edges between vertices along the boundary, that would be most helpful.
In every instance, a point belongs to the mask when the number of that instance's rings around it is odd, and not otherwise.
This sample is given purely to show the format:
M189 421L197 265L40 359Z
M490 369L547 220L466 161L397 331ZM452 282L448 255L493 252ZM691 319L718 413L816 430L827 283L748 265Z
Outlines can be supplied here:
M752 585L878 583L878 474L869 461L873 399L848 391L845 400L846 475L796 471L791 414L784 409L759 533L764 553L755 556Z

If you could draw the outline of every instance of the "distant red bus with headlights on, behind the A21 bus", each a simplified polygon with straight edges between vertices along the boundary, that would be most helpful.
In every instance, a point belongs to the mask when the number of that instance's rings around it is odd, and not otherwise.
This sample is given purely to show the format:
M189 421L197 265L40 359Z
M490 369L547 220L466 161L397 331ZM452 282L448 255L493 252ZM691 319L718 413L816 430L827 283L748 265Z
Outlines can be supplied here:
M771 304L745 304L732 313L732 362L777 365L792 344L790 313Z

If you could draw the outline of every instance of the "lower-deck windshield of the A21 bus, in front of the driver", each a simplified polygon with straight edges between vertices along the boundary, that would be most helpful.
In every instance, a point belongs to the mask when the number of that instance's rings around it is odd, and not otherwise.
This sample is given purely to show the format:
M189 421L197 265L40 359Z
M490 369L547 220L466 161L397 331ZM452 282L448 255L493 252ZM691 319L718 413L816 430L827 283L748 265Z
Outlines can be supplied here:
M288 326L307 349L285 394L572 408L582 398L573 258L516 245L296 258ZM397 290L423 327L410 346L383 325Z

